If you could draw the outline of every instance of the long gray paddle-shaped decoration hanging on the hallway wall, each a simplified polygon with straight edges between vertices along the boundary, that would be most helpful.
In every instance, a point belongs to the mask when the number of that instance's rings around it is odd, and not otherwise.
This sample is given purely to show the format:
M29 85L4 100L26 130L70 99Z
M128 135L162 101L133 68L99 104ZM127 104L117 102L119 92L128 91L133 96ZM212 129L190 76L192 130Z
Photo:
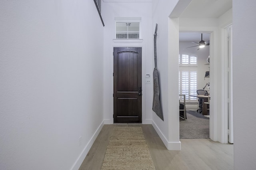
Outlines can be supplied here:
M153 107L152 110L164 121L163 113L162 113L162 108L159 100L159 83L158 83L158 70L157 70L157 59L156 59L156 36L157 36L157 24L156 24L156 29L155 29L155 34L154 34L154 59L155 59L155 68L153 72L153 86L154 86L154 96L153 96Z

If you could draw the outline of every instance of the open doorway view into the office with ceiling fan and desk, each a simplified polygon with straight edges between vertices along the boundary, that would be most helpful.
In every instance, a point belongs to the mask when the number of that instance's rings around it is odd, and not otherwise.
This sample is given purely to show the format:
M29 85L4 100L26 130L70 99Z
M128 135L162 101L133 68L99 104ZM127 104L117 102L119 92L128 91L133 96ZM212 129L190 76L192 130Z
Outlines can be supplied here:
M210 138L210 33L179 33L179 94L187 118L180 118L180 138Z

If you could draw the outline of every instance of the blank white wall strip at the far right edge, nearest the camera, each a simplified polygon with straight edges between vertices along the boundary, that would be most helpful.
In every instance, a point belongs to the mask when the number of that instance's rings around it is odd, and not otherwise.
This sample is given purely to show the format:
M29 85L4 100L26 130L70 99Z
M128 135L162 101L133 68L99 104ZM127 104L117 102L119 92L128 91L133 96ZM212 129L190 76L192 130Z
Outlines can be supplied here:
M234 106L234 169L256 167L255 108L255 43L254 0L233 0L233 106Z

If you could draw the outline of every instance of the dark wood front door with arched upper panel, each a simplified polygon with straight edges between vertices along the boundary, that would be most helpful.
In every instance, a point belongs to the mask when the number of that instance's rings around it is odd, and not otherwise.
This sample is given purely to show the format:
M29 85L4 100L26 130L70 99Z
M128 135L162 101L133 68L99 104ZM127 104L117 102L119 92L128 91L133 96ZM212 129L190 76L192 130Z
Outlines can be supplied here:
M114 47L114 123L142 123L141 47Z

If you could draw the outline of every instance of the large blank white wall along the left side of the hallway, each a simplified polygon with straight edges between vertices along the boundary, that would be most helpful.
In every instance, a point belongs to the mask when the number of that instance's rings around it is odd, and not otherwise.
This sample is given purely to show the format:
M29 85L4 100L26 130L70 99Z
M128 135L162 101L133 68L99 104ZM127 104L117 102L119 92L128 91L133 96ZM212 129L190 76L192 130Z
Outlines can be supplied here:
M0 169L78 169L103 125L94 2L2 0L0 20Z

